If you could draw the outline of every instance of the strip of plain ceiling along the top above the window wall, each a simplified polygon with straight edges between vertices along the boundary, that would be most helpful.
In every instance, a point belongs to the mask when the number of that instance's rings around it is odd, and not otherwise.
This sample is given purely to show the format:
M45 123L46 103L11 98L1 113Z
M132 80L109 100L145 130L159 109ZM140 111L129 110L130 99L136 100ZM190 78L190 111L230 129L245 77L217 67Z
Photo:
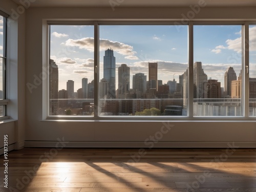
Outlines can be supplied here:
M20 4L20 0L13 0ZM119 7L187 7L205 3L208 7L255 6L255 0L34 0L31 7L109 7L116 3ZM115 4L114 4L115 5Z

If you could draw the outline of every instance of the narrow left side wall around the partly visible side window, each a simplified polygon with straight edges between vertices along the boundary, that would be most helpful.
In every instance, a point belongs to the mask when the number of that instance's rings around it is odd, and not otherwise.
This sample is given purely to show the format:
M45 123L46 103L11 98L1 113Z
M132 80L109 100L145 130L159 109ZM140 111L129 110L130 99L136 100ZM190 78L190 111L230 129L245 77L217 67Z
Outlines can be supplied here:
M4 146L3 135L8 134L8 143L16 149L24 146L25 140L25 12L14 15L17 5L3 0L0 9L10 15L8 23L8 68L7 97L10 99L7 115L10 120L0 122L0 148ZM15 121L17 120L18 121Z

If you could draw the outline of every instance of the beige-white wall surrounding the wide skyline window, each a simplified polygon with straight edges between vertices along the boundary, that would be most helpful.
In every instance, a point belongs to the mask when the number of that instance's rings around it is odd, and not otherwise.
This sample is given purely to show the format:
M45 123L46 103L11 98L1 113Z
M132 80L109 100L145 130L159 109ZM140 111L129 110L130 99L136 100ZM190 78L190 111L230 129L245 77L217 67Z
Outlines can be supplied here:
M42 53L42 35L45 35L43 19L181 19L190 8L30 8L26 12L26 82L33 83L39 76L47 58ZM201 8L195 19L256 19L255 8ZM44 58L44 59L43 59ZM44 60L44 62L42 62ZM42 121L42 97L45 87L40 84L33 92L26 89L26 146L54 146L51 142L64 137L67 146L139 146L150 136L159 134L162 122L157 121ZM44 91L43 91L44 90ZM43 103L45 104L45 103ZM170 120L174 127L154 146L226 147L227 142L237 142L240 147L256 146L256 124L254 121L204 121L182 122ZM166 131L166 130L165 130ZM156 135L160 137L161 135ZM38 142L35 142L38 141ZM75 143L76 142L76 143ZM115 142L115 143L114 143ZM122 143L124 142L124 143ZM132 143L134 142L134 143Z

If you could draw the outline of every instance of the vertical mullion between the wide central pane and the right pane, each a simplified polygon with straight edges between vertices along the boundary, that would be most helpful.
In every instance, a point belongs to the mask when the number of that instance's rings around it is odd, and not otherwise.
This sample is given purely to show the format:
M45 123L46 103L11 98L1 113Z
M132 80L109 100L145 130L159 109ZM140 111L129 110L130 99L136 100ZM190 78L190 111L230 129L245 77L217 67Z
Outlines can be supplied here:
M188 24L188 104L187 104L187 115L193 117L193 102L194 102L194 29L193 22Z

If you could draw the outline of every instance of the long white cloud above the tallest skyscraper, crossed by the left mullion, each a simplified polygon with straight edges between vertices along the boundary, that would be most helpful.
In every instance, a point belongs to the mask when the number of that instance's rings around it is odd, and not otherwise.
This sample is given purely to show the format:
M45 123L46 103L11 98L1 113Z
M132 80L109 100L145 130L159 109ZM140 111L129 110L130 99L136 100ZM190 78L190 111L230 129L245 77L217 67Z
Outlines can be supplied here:
M123 44L122 42L112 41L108 39L100 39L99 40L100 51L104 51L106 49L113 49L115 52L124 55L127 59L137 60L138 57L135 56L136 52L133 51L133 47L130 45ZM81 39L68 39L66 41L66 46L76 46L79 49L86 49L90 52L94 51L94 38L86 37Z

